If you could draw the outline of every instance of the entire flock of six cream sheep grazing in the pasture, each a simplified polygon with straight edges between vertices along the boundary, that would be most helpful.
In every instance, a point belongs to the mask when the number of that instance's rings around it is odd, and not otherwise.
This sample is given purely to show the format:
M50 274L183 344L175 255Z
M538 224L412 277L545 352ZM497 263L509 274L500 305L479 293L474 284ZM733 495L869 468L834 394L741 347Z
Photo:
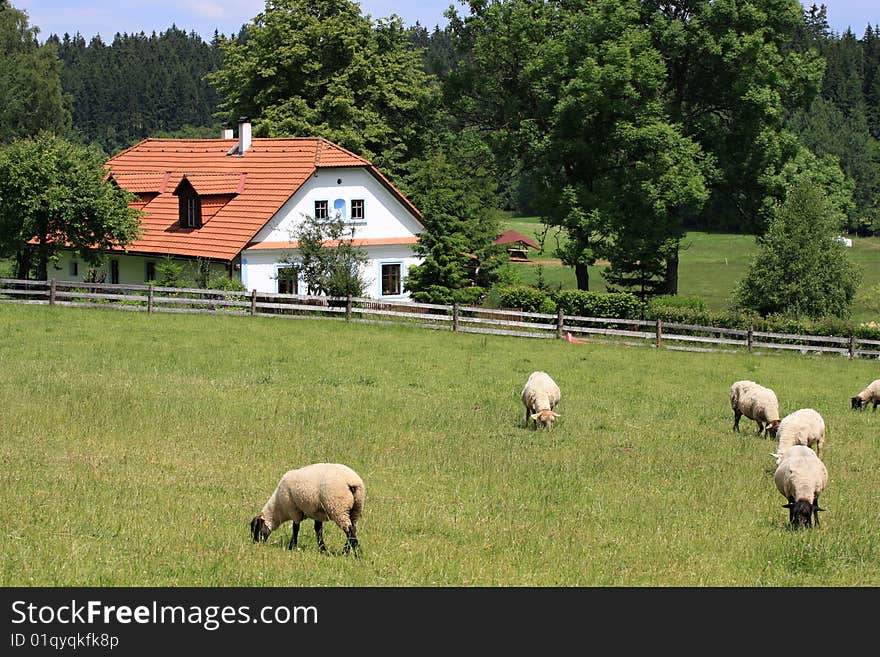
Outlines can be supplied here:
M548 431L560 417L555 411L562 392L549 374L532 372L520 395L525 407L526 427ZM862 410L880 404L880 379L872 381L852 398L852 408ZM776 393L754 381L736 381L730 386L730 406L733 409L733 430L739 431L739 421L745 416L758 425L758 434L768 435L777 442L776 488L788 500L789 522L795 527L811 526L815 518L819 525L819 493L828 484L828 470L822 462L825 447L825 421L812 408L801 408L779 418ZM816 451L813 451L815 448ZM293 523L293 535L288 549L297 544L300 523L305 518L314 520L318 548L324 544L324 522L332 521L345 532L343 553L354 551L357 556L357 521L363 512L366 490L363 479L354 470L341 463L313 463L290 470L281 477L275 491L251 520L254 542L266 541L269 535L288 520Z

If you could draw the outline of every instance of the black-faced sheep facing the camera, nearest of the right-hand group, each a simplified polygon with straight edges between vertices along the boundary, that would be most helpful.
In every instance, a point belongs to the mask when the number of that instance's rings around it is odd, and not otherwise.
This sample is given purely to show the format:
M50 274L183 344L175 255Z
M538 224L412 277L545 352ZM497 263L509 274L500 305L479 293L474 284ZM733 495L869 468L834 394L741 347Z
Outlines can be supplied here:
M819 493L828 484L828 470L816 453L804 445L794 445L776 468L773 475L776 488L788 500L788 521L794 527L809 527L816 518L819 526Z

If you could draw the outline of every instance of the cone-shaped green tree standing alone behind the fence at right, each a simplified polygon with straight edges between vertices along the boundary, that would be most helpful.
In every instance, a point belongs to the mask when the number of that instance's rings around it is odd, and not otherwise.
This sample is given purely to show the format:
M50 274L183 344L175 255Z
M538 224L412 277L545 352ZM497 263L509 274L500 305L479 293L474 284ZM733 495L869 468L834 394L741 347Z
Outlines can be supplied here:
M734 306L762 316L849 316L861 274L837 239L839 211L806 176L777 205L767 233L758 239Z

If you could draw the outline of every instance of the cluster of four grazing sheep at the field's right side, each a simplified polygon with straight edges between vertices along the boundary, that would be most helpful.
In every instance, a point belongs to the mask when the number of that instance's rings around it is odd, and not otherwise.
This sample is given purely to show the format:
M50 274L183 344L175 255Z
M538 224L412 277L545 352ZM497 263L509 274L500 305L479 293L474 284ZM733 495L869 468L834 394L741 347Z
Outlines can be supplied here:
M880 379L869 383L852 397L852 408L862 410L880 404ZM828 469L822 461L825 448L825 421L818 411L801 408L779 418L776 393L754 381L736 381L730 386L733 430L739 431L745 416L758 425L758 434L776 439L776 489L788 500L788 519L794 527L809 527L813 519L819 526L819 493L828 485ZM813 451L812 448L815 448Z

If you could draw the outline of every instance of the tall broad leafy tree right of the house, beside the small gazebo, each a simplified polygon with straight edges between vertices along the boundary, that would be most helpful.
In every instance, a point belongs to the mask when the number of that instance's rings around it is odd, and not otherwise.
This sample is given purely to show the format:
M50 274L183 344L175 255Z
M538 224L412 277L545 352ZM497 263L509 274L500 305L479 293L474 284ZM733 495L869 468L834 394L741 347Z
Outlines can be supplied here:
M542 219L568 233L557 255L578 288L603 254L621 286L659 267L674 287L682 216L706 197L708 162L666 113L665 62L642 3L469 5L450 21L467 56L448 102L491 132L500 161L524 167Z

